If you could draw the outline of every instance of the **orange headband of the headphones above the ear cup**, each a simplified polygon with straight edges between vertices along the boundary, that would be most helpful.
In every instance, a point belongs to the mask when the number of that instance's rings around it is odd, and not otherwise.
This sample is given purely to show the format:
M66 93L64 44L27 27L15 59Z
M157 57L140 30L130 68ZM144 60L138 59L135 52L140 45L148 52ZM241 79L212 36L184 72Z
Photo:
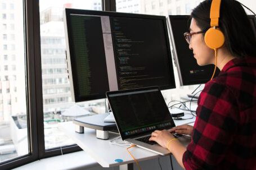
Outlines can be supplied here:
M210 7L210 26L219 26L219 11L221 10L221 0L213 0Z

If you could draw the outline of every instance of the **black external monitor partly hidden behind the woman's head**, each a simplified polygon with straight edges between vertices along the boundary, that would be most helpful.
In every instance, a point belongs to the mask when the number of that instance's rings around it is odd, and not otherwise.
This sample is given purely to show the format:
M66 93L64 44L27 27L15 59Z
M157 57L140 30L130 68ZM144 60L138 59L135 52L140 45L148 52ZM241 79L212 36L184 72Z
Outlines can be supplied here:
M256 36L256 19L255 16L248 16L253 26L254 35ZM190 16L169 16L170 21L170 34L172 42L172 52L174 56L174 62L178 70L179 82L183 85L196 85L204 84L210 80L214 71L214 65L199 66L192 50L188 48L188 44L183 36L190 27ZM219 73L217 72L215 76Z

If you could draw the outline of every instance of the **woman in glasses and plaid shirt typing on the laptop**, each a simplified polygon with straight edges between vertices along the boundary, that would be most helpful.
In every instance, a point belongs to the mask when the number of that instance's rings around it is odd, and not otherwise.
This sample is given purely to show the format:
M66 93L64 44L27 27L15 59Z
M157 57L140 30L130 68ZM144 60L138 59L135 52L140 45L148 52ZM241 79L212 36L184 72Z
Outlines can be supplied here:
M215 64L214 50L204 41L211 3L192 11L186 34L201 66ZM200 94L194 127L154 131L150 140L169 149L186 169L256 169L256 39L239 2L222 0L219 29L225 38L217 55L221 72ZM172 132L191 135L191 143L185 148Z

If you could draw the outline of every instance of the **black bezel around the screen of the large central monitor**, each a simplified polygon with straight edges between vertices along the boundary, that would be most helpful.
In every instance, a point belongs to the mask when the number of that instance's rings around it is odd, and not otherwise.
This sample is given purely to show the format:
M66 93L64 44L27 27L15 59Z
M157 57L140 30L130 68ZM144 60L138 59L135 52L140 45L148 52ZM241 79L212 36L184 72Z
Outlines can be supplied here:
M71 26L70 26L70 14L79 14L79 15L97 15L97 16L114 16L114 17L131 17L131 18L142 18L142 19L157 19L163 20L164 24L164 33L165 33L165 42L167 45L168 50L168 62L169 62L169 72L170 72L170 84L165 86L160 86L161 90L167 89L174 89L176 88L175 79L174 79L174 68L172 64L172 55L170 52L170 43L169 43L169 36L168 36L168 29L167 29L167 22L164 16L154 16L154 15L142 15L142 14L134 14L134 13L122 13L122 12L109 12L109 11L93 11L93 10L79 10L79 9L71 9L65 8L65 17L66 17L66 28L68 32L68 41L69 41L69 55L70 55L70 62L72 65L72 80L73 80L73 89L74 89L74 102L84 102L88 100L95 100L95 99L103 99L105 98L105 93L91 95L91 96L80 96L78 94L78 84L76 82L77 76L75 72L77 72L77 68L74 64L74 50L71 48L71 44L73 44L73 39L71 37Z

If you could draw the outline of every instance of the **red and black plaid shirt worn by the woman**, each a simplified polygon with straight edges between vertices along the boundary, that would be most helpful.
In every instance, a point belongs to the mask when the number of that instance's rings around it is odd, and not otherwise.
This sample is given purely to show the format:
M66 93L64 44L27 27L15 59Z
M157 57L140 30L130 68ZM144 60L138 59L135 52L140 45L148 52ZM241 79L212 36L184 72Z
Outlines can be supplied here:
M186 169L256 169L256 58L232 59L205 84Z

